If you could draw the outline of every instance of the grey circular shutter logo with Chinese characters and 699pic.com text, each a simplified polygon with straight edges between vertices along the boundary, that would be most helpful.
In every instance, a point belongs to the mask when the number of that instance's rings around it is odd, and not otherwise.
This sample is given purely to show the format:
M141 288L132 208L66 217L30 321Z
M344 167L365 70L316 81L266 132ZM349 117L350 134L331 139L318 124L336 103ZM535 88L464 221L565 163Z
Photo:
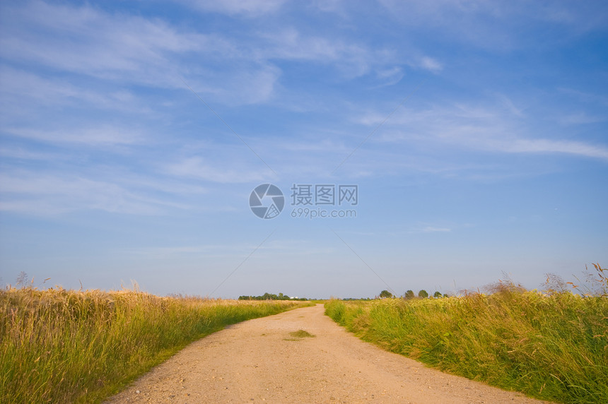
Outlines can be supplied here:
M347 209L359 203L357 185L293 184L291 186L291 218L356 218L357 211ZM285 206L285 197L278 186L262 184L249 197L251 211L262 219L276 218ZM334 209L328 209L333 206Z

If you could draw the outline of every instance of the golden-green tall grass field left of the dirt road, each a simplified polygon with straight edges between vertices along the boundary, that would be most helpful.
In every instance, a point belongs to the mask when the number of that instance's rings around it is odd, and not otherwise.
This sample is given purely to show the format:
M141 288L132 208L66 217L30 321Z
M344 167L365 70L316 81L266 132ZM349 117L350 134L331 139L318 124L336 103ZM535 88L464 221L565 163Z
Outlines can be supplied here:
M0 290L0 403L98 403L204 335L305 305Z

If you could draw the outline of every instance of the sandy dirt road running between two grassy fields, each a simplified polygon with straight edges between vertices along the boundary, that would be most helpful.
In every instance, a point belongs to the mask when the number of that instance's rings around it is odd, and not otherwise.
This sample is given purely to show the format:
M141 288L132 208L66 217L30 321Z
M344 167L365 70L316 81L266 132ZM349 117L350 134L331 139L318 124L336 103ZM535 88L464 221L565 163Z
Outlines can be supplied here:
M107 403L542 403L428 369L305 307L192 343ZM290 333L304 330L314 337Z

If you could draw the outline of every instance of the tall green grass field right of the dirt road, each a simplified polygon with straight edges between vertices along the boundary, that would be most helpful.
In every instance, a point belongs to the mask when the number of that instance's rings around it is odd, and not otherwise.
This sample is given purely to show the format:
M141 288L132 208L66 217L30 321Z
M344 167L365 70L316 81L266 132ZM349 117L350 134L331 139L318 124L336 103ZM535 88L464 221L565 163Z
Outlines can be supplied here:
M562 403L608 403L608 298L501 290L325 305L363 340L445 372Z

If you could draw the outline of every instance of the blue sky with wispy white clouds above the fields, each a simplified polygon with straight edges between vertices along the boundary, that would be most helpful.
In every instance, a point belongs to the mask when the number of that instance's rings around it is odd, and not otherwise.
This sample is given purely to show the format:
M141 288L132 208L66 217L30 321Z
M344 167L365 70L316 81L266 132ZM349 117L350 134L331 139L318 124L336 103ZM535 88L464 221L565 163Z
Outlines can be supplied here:
M2 1L0 284L574 280L608 266L607 42L604 1Z

